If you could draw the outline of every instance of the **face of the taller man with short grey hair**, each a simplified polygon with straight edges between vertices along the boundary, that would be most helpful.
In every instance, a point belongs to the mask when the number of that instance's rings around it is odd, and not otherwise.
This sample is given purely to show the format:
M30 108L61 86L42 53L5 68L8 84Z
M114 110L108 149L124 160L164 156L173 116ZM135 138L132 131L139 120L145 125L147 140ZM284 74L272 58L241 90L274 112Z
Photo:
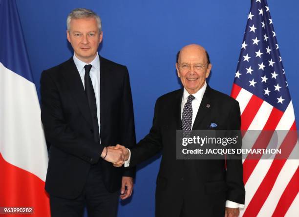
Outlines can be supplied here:
M76 57L85 63L90 63L97 55L98 47L103 39L103 32L99 32L96 19L72 19L70 31L66 31L66 34Z

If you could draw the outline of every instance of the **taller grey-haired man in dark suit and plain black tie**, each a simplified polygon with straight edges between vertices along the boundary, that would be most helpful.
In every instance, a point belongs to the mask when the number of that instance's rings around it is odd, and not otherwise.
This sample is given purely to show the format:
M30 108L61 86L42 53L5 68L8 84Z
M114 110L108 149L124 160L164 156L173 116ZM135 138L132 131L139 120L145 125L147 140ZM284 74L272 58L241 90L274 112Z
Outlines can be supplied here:
M118 197L131 195L135 168L108 145L135 145L132 97L126 66L98 55L101 20L79 8L67 18L74 55L41 77L42 121L50 143L45 189L52 217L116 217Z

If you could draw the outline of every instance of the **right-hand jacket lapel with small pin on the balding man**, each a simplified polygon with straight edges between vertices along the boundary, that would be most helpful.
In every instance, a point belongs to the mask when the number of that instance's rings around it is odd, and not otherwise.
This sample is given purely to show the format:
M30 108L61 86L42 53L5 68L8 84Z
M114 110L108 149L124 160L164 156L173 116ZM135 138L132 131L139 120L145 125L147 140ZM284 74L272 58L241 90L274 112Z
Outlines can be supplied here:
M194 120L192 130L205 128L204 123L203 123L203 119L205 117L207 117L207 115L211 111L210 89L211 89L210 86L207 85L206 91L203 95L200 106L198 108L197 115L196 115L196 118ZM201 126L201 127L199 127L199 126Z

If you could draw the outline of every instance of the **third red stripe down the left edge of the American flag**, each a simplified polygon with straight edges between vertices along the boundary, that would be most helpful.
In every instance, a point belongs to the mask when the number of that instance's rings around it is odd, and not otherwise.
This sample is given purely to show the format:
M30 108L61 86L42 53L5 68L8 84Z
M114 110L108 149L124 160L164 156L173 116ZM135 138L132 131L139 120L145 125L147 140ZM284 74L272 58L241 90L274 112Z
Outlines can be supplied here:
M273 107L271 114L263 127L263 131L260 133L258 138L256 139L255 144L253 145L253 149L255 148L266 148L269 144L269 141L274 133L276 126L281 119L283 112L278 110L277 108ZM242 120L243 121L243 120ZM273 131L264 131L264 130L273 130ZM251 176L252 172L256 168L256 164L259 161L261 155L248 155L247 158L243 162L243 181L244 184L248 181L249 177Z

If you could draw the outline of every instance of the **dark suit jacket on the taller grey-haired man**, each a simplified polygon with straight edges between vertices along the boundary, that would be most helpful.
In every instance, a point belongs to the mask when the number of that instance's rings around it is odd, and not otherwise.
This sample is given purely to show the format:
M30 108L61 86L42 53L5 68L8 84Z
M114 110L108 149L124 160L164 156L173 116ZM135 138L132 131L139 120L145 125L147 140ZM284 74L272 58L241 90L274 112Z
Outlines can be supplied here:
M135 168L116 168L100 158L105 146L136 143L126 66L100 57L101 144L94 141L84 86L73 58L43 71L41 96L45 137L51 145L45 182L50 195L78 197L92 164L100 167L109 192L120 189L122 176L134 176Z

